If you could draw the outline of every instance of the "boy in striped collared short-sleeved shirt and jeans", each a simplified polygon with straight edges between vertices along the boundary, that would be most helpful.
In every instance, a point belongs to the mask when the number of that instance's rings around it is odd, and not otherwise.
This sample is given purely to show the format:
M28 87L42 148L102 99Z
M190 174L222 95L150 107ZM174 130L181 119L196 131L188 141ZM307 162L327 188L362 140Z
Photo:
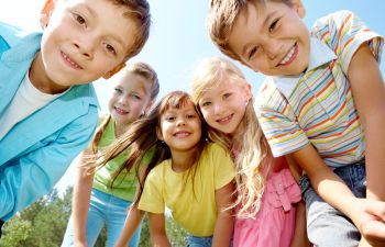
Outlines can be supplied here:
M208 25L224 54L270 76L255 110L273 155L306 171L310 242L384 245L383 38L349 11L310 33L304 16L300 0L213 0Z

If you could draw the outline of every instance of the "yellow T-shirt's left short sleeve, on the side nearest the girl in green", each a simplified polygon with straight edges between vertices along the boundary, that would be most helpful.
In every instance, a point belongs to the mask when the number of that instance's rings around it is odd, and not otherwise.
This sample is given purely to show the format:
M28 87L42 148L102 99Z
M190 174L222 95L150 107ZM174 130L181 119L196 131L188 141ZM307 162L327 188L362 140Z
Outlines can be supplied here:
M139 201L139 209L150 213L163 214L165 209L162 193L163 180L156 171L158 171L158 169L152 170L145 180L143 193Z

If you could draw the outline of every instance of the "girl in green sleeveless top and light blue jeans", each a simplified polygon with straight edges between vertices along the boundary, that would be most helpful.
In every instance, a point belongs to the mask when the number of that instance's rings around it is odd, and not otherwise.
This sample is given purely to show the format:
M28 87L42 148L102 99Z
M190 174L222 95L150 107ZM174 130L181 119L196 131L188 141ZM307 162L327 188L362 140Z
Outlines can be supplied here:
M92 141L92 150L107 147L143 116L160 91L156 72L144 63L129 64L117 76L108 103L110 114L101 122ZM87 151L86 151L87 153ZM87 173L80 164L74 187L73 216L62 246L94 246L107 224L107 246L113 246L124 225L127 207L135 195L134 169L119 172L129 154L123 153L95 173ZM84 156L87 156L86 154ZM130 242L138 247L140 228Z

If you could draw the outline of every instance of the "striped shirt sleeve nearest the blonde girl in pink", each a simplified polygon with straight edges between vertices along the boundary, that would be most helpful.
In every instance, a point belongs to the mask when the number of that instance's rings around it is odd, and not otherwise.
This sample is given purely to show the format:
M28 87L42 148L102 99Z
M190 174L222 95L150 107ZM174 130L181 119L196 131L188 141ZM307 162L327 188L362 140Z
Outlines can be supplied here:
M274 157L290 154L309 144L290 105L275 87L265 83L256 99L255 113Z

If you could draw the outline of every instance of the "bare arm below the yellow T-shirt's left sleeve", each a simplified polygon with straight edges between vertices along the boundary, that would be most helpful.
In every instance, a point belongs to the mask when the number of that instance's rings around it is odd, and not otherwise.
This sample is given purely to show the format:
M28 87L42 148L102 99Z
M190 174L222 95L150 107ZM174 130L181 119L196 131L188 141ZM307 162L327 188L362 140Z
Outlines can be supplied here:
M154 247L172 247L165 227L164 214L147 213L150 221L151 243Z

